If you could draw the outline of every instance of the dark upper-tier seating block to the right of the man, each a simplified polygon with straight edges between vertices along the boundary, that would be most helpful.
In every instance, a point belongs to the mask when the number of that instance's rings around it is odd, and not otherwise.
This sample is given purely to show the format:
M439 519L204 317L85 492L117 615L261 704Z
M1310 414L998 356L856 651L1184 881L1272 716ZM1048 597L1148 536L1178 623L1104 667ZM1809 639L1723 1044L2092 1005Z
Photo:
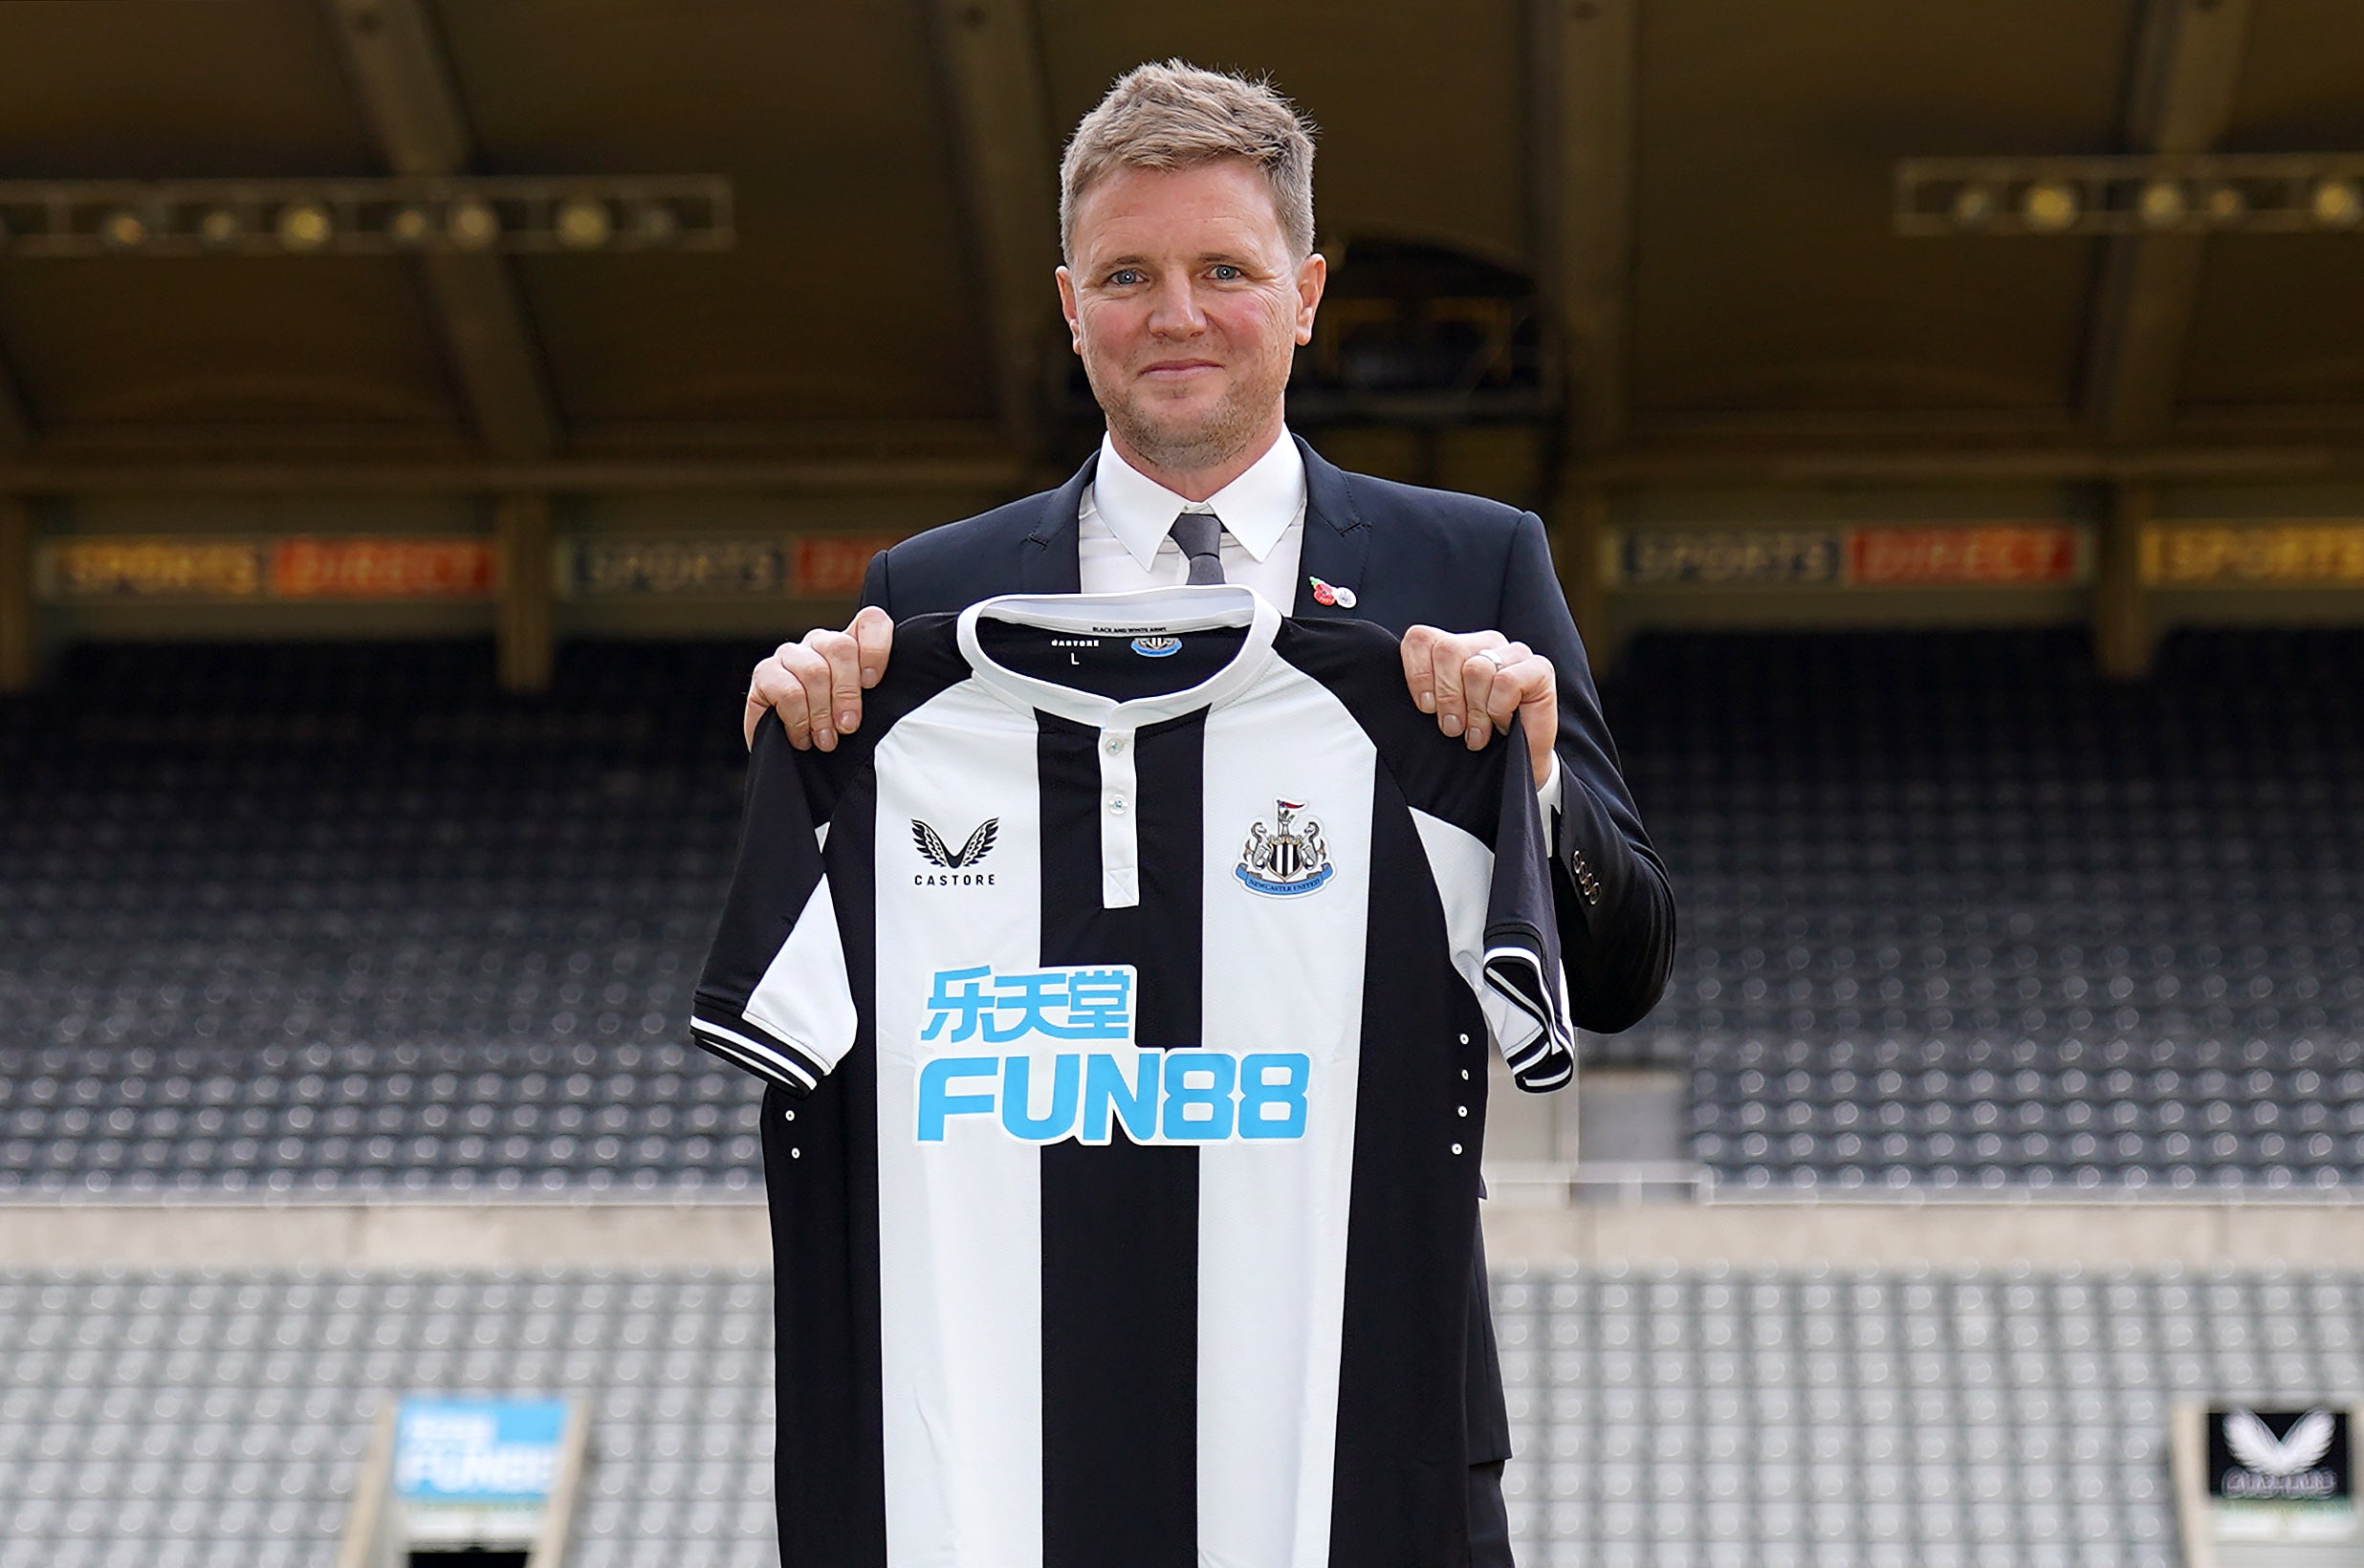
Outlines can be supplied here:
M1608 691L1676 880L1660 1010L1726 1185L2364 1175L2355 631L1641 641Z

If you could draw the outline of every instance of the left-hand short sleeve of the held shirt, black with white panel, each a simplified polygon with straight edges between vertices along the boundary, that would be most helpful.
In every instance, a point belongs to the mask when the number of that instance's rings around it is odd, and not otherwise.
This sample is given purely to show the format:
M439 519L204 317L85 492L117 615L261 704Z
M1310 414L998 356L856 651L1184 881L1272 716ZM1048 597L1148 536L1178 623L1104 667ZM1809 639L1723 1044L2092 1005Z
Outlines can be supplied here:
M853 1048L853 991L804 762L766 719L747 759L738 870L690 1003L690 1036L792 1095Z

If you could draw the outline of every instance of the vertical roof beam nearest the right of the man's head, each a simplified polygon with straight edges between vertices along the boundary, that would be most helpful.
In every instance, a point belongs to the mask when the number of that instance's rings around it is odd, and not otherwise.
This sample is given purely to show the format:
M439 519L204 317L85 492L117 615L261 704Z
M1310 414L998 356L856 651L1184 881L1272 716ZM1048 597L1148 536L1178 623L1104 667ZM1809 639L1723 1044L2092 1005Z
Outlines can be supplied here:
M1638 0L1530 0L1530 225L1537 286L1567 343L1567 435L1626 435Z

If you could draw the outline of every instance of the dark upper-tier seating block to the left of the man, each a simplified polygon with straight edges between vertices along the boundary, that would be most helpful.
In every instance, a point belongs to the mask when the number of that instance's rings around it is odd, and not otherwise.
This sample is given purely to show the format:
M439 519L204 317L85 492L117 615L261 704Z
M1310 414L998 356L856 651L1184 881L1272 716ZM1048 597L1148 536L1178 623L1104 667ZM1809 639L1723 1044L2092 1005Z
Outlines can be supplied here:
M759 1185L683 1038L752 660L90 648L0 705L0 1192Z

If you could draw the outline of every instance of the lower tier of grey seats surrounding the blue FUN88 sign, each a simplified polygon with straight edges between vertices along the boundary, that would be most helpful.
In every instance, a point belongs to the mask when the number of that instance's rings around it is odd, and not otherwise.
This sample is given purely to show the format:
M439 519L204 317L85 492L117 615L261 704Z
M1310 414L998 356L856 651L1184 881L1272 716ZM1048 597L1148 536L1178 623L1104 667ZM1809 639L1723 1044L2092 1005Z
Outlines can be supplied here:
M329 1563L388 1388L572 1391L574 1568L771 1568L756 1270L0 1272L0 1566Z

